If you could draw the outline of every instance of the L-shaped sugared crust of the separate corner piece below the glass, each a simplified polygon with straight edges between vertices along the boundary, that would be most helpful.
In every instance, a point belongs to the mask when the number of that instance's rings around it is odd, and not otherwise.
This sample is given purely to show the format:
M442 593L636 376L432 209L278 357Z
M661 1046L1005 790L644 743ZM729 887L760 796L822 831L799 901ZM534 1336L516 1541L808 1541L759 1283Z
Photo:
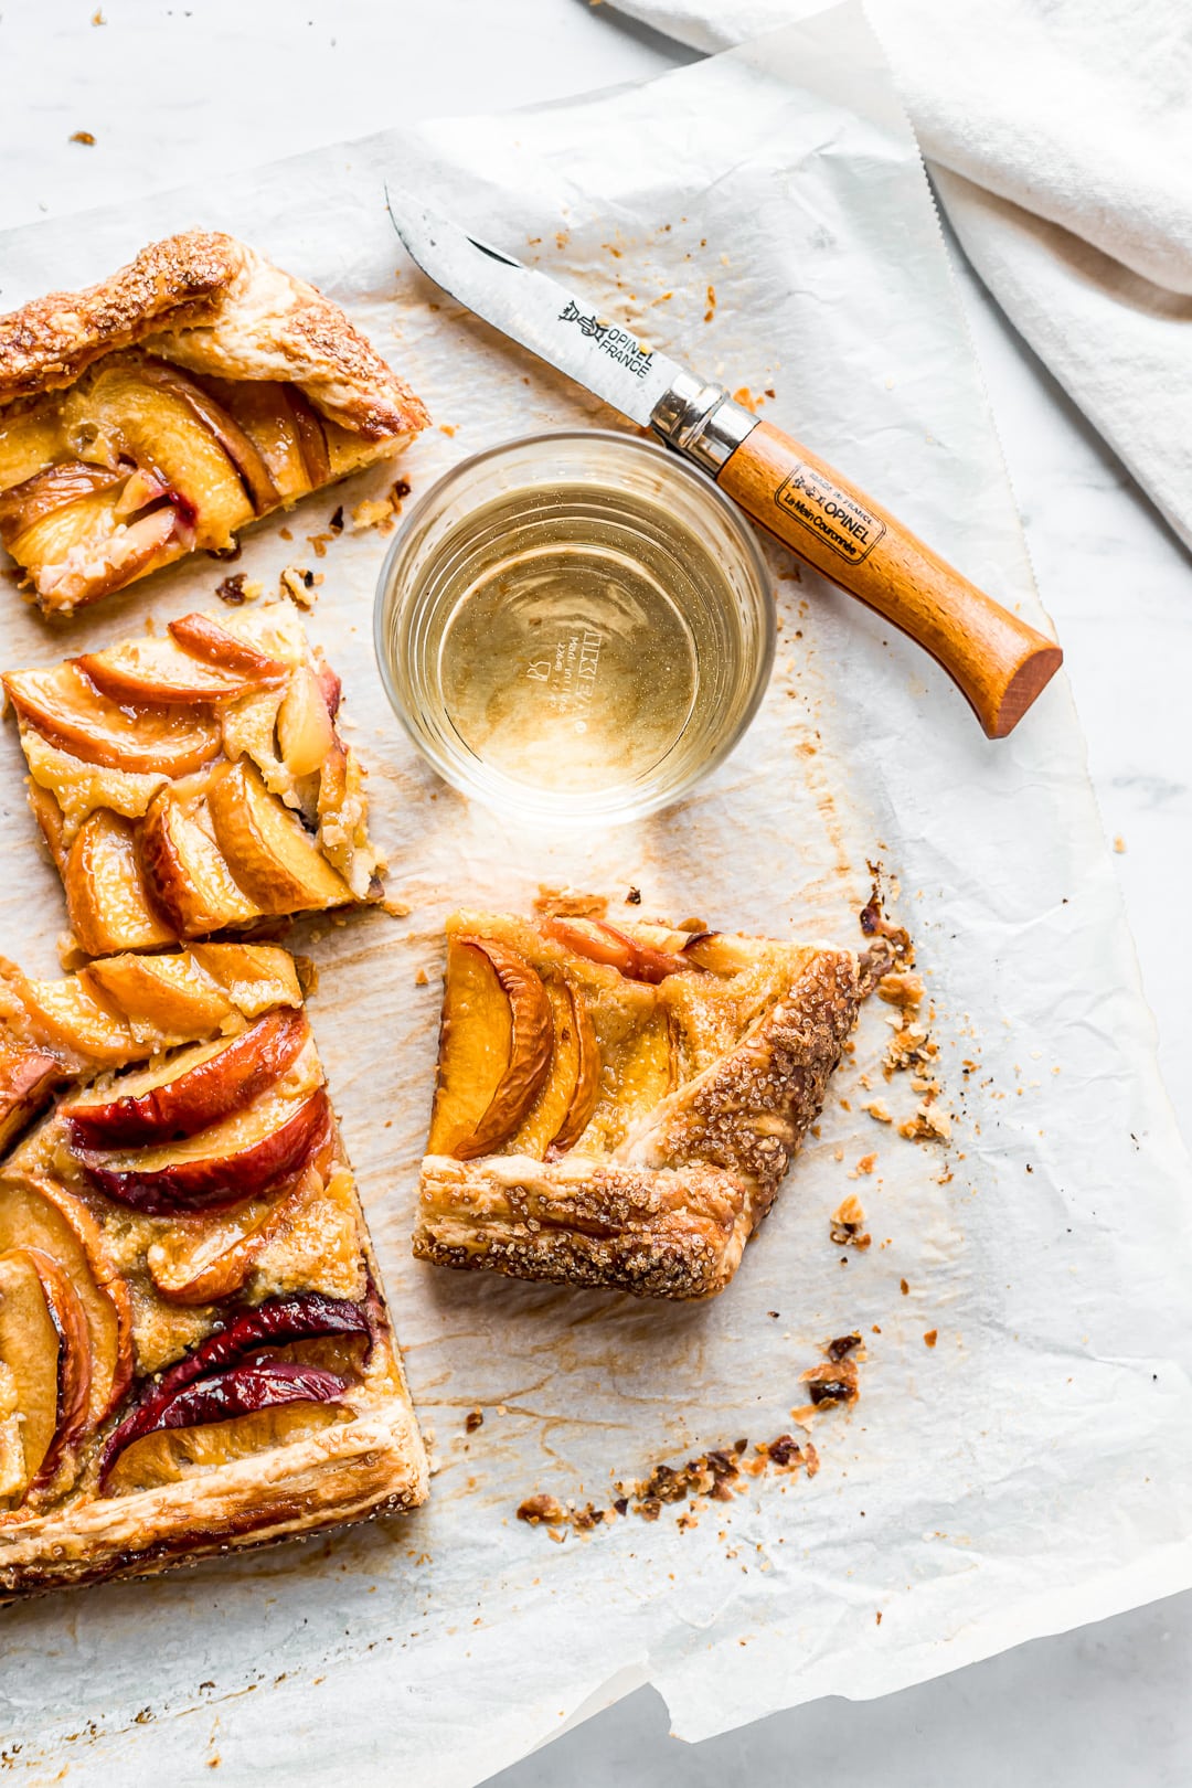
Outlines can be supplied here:
M742 1041L608 1160L429 1155L415 1255L634 1296L715 1296L822 1105L865 991L865 958L817 951Z

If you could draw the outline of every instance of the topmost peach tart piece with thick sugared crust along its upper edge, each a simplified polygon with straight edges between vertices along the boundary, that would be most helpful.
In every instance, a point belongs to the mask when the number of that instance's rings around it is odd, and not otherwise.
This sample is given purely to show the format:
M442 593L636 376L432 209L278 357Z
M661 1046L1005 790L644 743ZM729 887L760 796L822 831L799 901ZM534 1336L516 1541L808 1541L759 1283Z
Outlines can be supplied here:
M232 236L152 243L0 318L0 540L46 613L229 552L425 427L313 286Z

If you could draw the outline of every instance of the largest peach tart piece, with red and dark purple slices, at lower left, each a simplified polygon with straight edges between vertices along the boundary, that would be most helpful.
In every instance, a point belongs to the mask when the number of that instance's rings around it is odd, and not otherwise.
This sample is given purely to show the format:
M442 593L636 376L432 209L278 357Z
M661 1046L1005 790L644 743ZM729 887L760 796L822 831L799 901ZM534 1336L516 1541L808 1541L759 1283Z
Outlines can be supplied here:
M0 1595L425 1497L286 951L5 964L0 1116Z

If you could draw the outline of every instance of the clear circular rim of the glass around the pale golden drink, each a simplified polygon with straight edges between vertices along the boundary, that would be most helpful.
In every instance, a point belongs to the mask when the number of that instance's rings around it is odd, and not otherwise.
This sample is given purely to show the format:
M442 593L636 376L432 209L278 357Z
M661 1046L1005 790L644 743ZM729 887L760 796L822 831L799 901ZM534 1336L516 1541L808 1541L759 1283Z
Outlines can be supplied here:
M397 688L390 665L388 622L393 613L400 613L404 606L404 597L395 594L397 579L393 569L402 552L407 551L409 540L425 520L427 511L441 508L445 499L457 486L466 486L468 479L483 474L493 461L509 460L520 452L533 452L536 447L558 447L561 442L604 449L611 447L615 452L629 452L634 458L649 458L659 467L665 465L667 474L679 485L686 486L697 504L702 502L706 510L715 511L717 519L726 527L738 551L738 561L745 574L743 583L751 597L751 606L760 619L760 649L752 654L754 663L751 665L745 679L749 683L749 696L742 704L735 724L717 738L713 749L699 762L697 767L684 772L672 785L652 789L638 796L633 796L629 792L629 785L625 783L617 785L608 799L593 797L592 794L577 796L574 792L543 794L531 785L518 783L513 778L506 778L500 771L483 765L483 760L479 758L479 772L470 776L463 762L457 762L443 753L416 724L409 712L409 704ZM531 481L533 479L527 477L527 483ZM608 483L608 479L599 476L592 477L593 488L599 488L602 483ZM475 506L479 508L484 501L484 495L477 495ZM679 522L677 526L688 529L686 522ZM524 821L550 822L552 826L575 830L584 824L625 824L643 819L649 814L656 814L661 808L676 806L679 801L686 799L686 796L690 796L701 781L718 769L720 763L724 763L752 724L770 683L774 653L777 647L777 603L770 569L747 517L704 470L692 465L688 460L679 458L679 454L665 447L661 442L649 440L642 434L631 434L620 429L540 429L533 434L516 434L504 442L495 442L491 447L483 447L479 452L468 454L466 460L459 460L456 465L447 467L447 470L422 492L411 510L402 515L399 529L390 542L377 574L372 633L374 656L390 708L418 755L438 776L443 778L445 783L449 783L449 787L504 817L516 814Z

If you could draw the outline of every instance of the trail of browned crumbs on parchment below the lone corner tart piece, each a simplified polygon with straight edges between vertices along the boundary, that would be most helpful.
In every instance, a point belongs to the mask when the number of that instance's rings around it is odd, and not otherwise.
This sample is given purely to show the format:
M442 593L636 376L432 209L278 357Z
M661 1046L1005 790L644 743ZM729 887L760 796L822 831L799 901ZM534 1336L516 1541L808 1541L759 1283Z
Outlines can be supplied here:
M792 1409L797 1427L808 1430L815 1420L835 1407L852 1407L858 1389L858 1361L865 1359L865 1345L860 1332L840 1336L824 1348L827 1359L801 1373L799 1382L810 1386L810 1402ZM733 1502L751 1482L765 1477L770 1470L793 1477L806 1472L811 1479L820 1468L820 1455L806 1438L777 1434L772 1441L758 1441L749 1446L749 1439L736 1439L726 1446L709 1448L686 1464L656 1464L647 1477L613 1484L613 1498L606 1509L588 1502L579 1507L574 1500L559 1502L545 1491L525 1497L518 1504L518 1522L531 1527L545 1527L550 1539L563 1543L568 1529L590 1532L617 1520L636 1514L643 1522L656 1522L665 1509L677 1509L676 1525L688 1532L699 1527L699 1516L709 1502ZM724 1534L720 1536L724 1538Z

